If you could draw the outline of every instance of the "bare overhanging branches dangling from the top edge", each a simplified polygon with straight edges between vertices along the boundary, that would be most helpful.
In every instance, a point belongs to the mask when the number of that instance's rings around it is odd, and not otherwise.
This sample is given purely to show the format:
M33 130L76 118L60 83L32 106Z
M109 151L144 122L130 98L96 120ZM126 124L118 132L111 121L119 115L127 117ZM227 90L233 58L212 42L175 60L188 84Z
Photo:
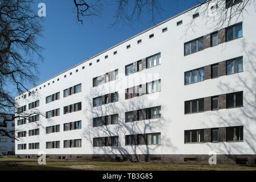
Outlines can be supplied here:
M93 16L100 16L101 11L104 10L104 5L108 5L105 1L91 1L91 0L73 0L76 7L77 21L83 23L84 18L93 18ZM114 21L111 27L118 23L125 23L129 26L134 21L140 21L142 15L147 15L150 18L150 23L156 24L157 19L161 16L164 9L159 0L119 0L111 1L116 7L114 11ZM172 1L174 6L179 6L179 0ZM197 0L198 5L195 7L193 13L204 14L204 18L212 18L212 11L215 10L214 19L217 23L214 26L221 28L224 23L228 21L228 25L233 19L238 19L243 13L246 13L247 6L254 3L255 0ZM216 6L217 5L217 6ZM236 5L236 6L234 6ZM217 7L217 8L216 8ZM218 8L221 7L221 8ZM224 8L222 8L224 7ZM217 15L217 16L216 16ZM192 19L188 24L188 28L193 25L195 19Z

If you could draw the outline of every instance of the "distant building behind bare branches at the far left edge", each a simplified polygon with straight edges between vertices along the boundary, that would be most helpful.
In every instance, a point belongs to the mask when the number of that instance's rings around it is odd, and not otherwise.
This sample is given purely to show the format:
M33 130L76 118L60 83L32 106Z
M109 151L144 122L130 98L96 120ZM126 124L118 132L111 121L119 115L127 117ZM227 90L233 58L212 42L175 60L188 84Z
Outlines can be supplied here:
M6 127L0 127L0 129L3 129L11 136L14 136L14 129L15 129L15 122L9 121L13 118L13 114L6 114L6 113L0 113L0 124L3 126L3 121L5 119L8 119L6 121ZM9 154L9 152L13 153L15 152L15 139L7 137L2 131L0 131L0 154L6 155Z

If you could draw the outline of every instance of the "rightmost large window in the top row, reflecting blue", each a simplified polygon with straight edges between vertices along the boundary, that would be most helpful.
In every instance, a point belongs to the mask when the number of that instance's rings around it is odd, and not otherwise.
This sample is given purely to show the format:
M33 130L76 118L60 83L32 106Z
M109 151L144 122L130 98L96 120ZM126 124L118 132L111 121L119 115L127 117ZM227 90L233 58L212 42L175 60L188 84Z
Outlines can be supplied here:
M242 23L235 24L226 28L226 42L243 36Z

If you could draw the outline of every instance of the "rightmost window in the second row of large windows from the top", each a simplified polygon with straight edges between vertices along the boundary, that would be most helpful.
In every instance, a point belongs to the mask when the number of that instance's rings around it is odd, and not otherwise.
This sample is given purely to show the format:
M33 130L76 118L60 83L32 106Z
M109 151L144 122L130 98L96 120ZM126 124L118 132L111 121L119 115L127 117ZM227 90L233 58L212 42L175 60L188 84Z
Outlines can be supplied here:
M226 61L226 75L239 73L243 71L243 57Z

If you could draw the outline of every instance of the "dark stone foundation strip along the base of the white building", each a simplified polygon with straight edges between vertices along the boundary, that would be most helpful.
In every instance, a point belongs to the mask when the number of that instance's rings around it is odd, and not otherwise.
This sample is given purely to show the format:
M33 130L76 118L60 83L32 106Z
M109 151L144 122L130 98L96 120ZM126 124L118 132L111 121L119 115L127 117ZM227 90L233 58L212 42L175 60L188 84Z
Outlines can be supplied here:
M36 159L38 155L16 155L18 158ZM209 155L114 155L114 154L81 154L81 155L46 155L46 159L88 160L112 162L152 162L173 164L209 164ZM217 155L217 164L247 164L255 166L256 155Z

